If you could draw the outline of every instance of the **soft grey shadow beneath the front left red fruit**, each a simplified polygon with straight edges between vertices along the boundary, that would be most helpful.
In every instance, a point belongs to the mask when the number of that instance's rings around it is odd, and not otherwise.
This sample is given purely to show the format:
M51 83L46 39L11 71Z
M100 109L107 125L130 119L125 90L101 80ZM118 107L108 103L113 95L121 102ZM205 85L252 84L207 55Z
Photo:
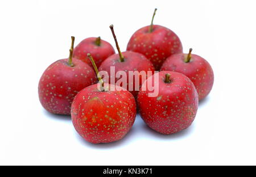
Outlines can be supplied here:
M114 141L114 142L109 142L109 143L101 143L101 144L92 144L84 138L82 138L76 131L74 131L76 134L77 139L84 144L85 146L92 147L92 148L98 148L98 149L112 149L118 146L121 146L123 144L126 144L128 141L131 142L131 137L134 136L135 129L132 127L130 131L126 134L125 137L123 137L121 140Z

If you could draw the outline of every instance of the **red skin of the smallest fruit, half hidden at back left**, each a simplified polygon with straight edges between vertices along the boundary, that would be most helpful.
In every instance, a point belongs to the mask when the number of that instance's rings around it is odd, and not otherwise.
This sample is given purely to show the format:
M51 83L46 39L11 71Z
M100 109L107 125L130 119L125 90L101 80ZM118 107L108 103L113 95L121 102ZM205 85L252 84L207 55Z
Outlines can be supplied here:
M102 61L115 53L114 48L107 41L101 39L100 46L96 45L97 37L89 37L82 40L74 49L73 57L81 61L84 61L86 64L89 64L91 67L92 63L87 57L87 53L90 53L93 57L93 60L97 67L100 67Z

